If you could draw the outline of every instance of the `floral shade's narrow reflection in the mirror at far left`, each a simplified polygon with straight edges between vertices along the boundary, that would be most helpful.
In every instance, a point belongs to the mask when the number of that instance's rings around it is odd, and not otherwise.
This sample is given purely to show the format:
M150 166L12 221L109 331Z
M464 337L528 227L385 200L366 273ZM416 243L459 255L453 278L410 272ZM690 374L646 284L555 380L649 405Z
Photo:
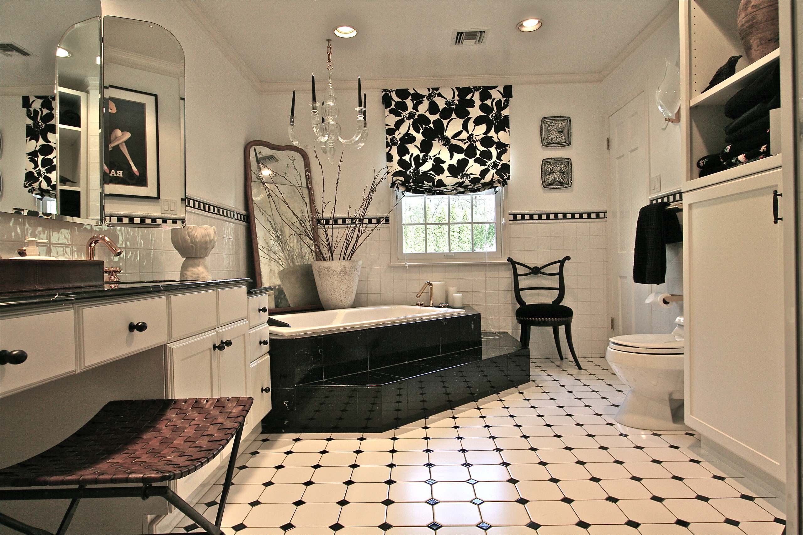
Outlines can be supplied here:
M55 197L55 96L23 96L25 166L23 186L36 197Z

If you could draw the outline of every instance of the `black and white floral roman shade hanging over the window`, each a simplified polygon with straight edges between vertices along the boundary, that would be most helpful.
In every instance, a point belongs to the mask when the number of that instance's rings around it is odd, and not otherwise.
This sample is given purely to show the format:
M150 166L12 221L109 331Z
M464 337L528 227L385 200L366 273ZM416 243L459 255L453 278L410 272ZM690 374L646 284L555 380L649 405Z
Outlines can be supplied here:
M384 89L390 187L448 195L507 185L512 96L510 85Z

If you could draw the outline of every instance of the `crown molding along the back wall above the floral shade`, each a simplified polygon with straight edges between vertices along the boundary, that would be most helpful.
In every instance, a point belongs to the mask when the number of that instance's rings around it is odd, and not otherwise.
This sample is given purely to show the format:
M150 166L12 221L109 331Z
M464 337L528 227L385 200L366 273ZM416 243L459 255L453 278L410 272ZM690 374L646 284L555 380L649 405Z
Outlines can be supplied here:
M363 89L390 88L437 88L460 87L462 85L538 85L538 84L597 84L602 81L600 73L557 74L557 75L491 75L491 76L450 76L445 78L430 76L418 78L384 78L380 80L362 80ZM298 82L263 82L260 93L287 93L294 89L306 89L309 80ZM338 88L356 89L357 82L352 80L337 82Z

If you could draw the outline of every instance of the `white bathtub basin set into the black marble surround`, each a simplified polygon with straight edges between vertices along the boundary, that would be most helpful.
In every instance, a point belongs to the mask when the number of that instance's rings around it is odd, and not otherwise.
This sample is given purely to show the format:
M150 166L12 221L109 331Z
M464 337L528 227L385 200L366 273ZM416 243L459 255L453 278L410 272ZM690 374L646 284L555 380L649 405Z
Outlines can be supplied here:
M410 304L389 304L375 307L340 308L298 314L276 314L274 319L290 327L269 328L272 338L300 338L312 335L369 329L381 325L397 325L411 321L434 320L463 316L462 308L418 307Z

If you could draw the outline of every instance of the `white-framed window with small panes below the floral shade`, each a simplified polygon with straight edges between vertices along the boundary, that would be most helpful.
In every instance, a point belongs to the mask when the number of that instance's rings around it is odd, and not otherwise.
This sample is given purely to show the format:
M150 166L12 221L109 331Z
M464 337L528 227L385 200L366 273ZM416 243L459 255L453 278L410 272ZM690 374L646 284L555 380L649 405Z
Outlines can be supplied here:
M407 262L501 257L501 194L405 194L399 203L398 253Z

